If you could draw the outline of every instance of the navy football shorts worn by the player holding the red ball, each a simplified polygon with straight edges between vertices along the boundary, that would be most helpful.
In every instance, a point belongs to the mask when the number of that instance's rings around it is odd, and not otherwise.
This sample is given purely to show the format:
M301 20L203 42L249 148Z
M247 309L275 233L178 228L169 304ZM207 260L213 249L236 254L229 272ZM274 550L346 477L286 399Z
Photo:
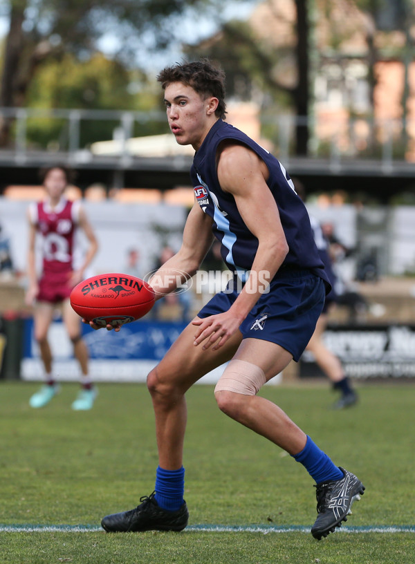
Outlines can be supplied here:
M232 281L231 281L232 283ZM228 311L237 299L237 290L219 292L198 313L208 317ZM324 306L324 281L309 270L277 272L270 292L262 294L241 323L243 339L263 339L288 350L299 360L315 330Z

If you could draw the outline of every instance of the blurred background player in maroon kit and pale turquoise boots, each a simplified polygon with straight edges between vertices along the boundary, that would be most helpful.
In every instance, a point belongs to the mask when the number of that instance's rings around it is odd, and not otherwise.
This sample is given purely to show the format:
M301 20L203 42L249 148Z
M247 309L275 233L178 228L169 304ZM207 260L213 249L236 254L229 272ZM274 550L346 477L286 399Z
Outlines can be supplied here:
M80 317L69 303L72 288L84 279L84 271L98 250L98 243L84 209L79 201L71 202L64 197L69 183L69 172L65 167L51 167L43 173L46 199L33 203L28 209L29 286L26 303L34 306L35 339L39 344L46 382L40 390L30 397L30 406L43 407L52 400L58 391L53 373L53 357L48 343L48 329L57 307L62 311L62 319L73 343L73 351L82 371L81 390L72 404L75 410L91 409L96 390L89 377L89 355L82 339ZM83 229L89 248L82 265L74 267L75 231ZM38 279L36 261L36 238L42 236L42 272Z

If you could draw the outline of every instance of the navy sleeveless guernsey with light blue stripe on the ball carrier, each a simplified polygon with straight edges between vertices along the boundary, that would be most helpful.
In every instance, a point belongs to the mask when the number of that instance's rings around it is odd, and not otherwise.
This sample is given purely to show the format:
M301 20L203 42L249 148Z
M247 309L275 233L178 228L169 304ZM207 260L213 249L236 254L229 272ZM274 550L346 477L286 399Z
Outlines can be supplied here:
M190 175L199 205L213 219L213 233L221 241L221 255L229 270L236 273L242 282L246 282L257 252L258 239L243 222L232 194L223 191L219 185L216 149L226 139L245 144L268 167L267 185L277 203L289 248L280 269L311 270L324 280L328 291L329 279L315 245L308 212L295 193L288 173L273 155L248 135L223 120L218 120L196 152Z

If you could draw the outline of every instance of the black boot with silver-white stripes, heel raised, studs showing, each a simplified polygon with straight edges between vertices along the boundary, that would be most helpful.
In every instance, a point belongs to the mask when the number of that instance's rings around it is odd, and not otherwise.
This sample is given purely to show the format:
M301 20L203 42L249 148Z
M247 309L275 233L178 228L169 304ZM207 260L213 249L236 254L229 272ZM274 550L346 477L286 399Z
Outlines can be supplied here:
M335 527L347 521L353 501L360 500L360 495L365 492L365 486L354 474L344 468L340 470L344 474L340 480L328 480L315 486L318 515L311 534L317 540L335 532Z

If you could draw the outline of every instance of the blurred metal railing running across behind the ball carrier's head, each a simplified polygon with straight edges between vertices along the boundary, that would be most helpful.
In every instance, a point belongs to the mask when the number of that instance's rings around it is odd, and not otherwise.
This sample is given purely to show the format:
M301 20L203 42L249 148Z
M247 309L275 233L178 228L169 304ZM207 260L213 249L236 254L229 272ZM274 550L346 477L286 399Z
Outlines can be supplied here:
M385 172L397 162L410 165L415 161L415 120L262 115L261 126L263 137L282 162L297 157L296 131L305 126L306 158L324 160L332 171L351 161L371 161ZM115 158L123 160L134 156L127 144L129 138L168 132L162 111L84 109L0 108L0 131L4 128L8 138L0 147L0 162L11 158L19 163L39 153L87 162L96 158L94 142L103 140L118 140Z

